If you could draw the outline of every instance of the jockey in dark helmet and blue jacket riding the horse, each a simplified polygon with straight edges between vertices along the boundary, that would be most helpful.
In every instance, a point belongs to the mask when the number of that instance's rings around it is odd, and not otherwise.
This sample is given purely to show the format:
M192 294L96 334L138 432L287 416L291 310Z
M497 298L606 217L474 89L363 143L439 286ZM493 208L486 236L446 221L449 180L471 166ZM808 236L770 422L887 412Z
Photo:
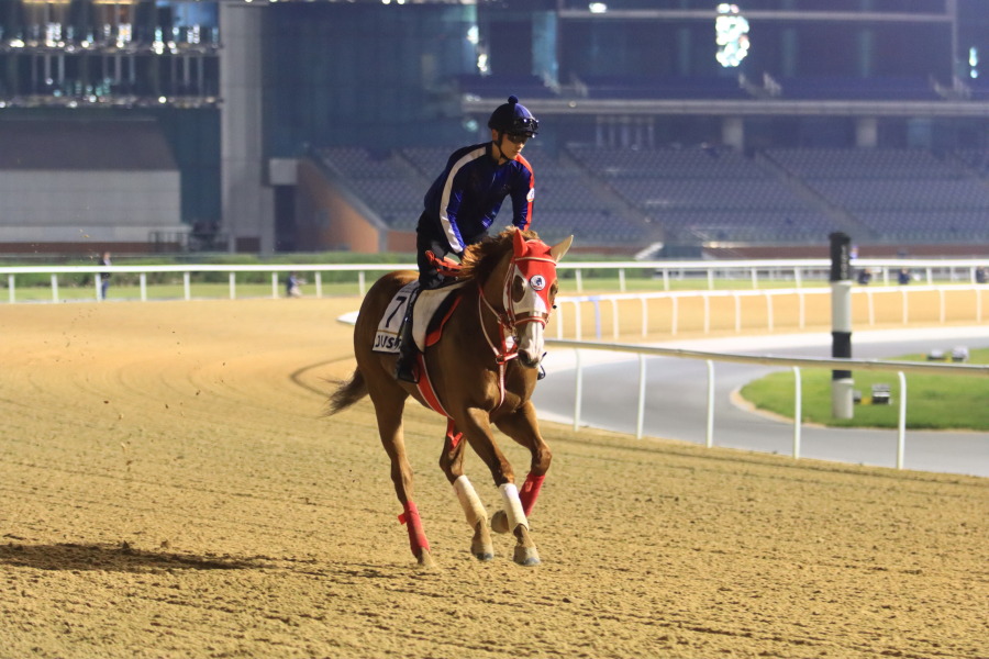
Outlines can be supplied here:
M402 321L401 353L395 373L399 380L419 380L413 369L418 349L412 339L412 303L419 291L449 281L427 253L435 259L447 254L463 256L467 245L488 235L505 197L512 198L512 224L525 230L532 222L534 179L522 149L538 132L540 122L511 96L491 113L488 127L491 141L455 150L423 199L425 209L415 227L420 286L409 300Z

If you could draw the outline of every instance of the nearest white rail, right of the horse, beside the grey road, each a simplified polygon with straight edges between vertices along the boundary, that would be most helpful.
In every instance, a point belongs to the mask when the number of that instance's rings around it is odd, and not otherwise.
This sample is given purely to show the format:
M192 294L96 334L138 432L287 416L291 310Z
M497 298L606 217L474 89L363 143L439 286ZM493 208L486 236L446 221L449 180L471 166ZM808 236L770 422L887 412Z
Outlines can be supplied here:
M941 373L952 376L981 376L989 377L989 366L974 366L963 364L929 364L912 361L881 361L876 359L821 359L821 358L789 358L754 355L737 355L723 353L704 353L700 350L685 350L679 348L660 348L651 346L635 346L629 344L602 344L594 342L548 339L553 347L574 348L577 355L575 368L575 395L574 395L574 431L580 427L580 413L584 402L584 369L580 364L581 350L605 350L614 353L632 353L638 356L638 398L636 405L636 438L643 436L643 422L646 407L646 364L647 356L678 357L682 359L702 359L708 365L707 390L707 432L705 445L710 448L714 445L714 362L727 361L735 364L756 364L763 366L788 366L793 369L793 458L800 457L800 434L802 427L802 395L800 384L800 367L826 368L832 370L871 370L893 371L900 383L899 391L899 422L897 435L897 469L903 468L903 457L907 448L907 372Z

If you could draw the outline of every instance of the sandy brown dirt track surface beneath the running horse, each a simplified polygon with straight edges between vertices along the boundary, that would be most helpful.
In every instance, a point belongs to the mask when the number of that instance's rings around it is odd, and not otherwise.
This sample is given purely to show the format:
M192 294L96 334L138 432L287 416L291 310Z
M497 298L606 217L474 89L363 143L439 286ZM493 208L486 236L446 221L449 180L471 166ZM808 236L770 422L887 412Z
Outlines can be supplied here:
M479 563L412 409L418 569L370 403L321 415L356 306L0 305L0 657L989 657L986 479L544 423L543 565Z

